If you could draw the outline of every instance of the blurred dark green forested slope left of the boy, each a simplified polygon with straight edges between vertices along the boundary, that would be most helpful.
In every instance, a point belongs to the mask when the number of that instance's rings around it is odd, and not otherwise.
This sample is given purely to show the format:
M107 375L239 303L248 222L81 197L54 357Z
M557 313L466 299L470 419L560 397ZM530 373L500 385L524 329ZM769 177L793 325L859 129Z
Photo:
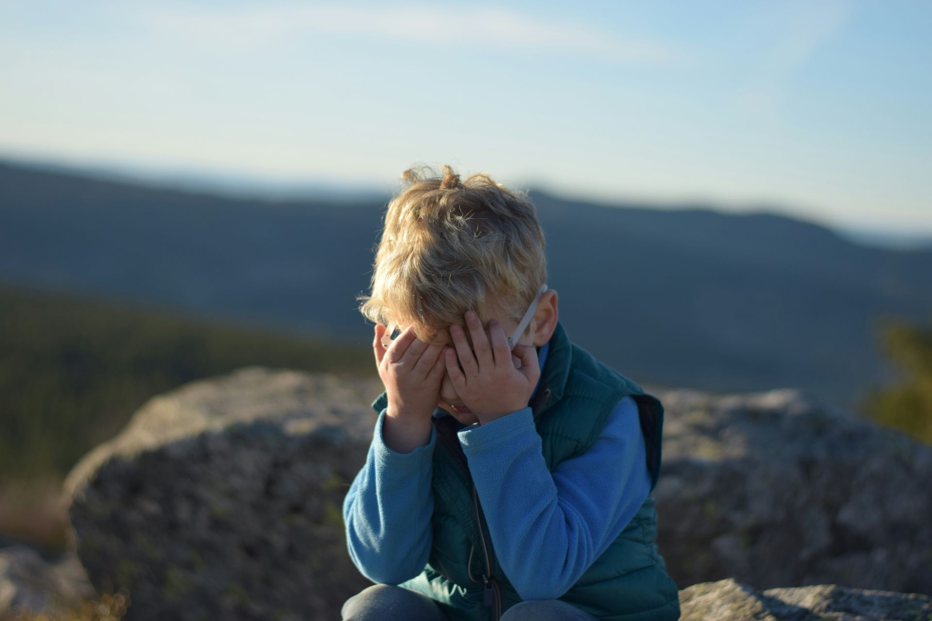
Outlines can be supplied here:
M62 479L148 398L251 365L376 373L368 347L9 285L0 325L0 541L49 551Z

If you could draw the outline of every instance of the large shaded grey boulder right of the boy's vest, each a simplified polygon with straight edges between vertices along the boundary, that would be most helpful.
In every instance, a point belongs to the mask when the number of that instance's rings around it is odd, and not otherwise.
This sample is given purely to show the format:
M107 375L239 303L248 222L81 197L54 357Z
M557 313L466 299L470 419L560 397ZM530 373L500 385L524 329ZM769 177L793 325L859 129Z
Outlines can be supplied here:
M796 390L654 394L658 547L679 585L932 593L932 447Z

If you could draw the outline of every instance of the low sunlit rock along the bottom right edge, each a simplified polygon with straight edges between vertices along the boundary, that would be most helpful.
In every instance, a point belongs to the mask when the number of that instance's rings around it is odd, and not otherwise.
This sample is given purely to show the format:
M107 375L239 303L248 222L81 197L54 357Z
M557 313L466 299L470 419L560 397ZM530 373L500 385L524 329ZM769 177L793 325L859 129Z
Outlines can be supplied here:
M838 585L754 587L726 578L679 591L681 621L927 621L932 598Z

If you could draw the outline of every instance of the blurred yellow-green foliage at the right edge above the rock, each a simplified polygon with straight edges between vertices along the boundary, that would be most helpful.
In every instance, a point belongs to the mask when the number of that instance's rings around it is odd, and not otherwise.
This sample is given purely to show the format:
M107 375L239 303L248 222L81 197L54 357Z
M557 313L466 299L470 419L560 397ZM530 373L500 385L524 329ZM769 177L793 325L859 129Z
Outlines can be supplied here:
M861 413L932 444L932 325L885 319L879 330L884 354L903 375L894 384L870 390Z

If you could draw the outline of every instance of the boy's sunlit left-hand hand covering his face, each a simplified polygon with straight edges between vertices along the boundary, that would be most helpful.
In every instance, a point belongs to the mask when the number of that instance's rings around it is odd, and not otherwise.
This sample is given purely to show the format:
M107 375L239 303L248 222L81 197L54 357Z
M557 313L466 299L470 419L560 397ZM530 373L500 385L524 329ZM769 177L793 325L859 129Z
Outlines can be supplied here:
M382 335L388 330L376 324L376 364L388 398L386 415L404 422L431 421L440 400L444 378L443 345L428 345L408 327L386 349Z

